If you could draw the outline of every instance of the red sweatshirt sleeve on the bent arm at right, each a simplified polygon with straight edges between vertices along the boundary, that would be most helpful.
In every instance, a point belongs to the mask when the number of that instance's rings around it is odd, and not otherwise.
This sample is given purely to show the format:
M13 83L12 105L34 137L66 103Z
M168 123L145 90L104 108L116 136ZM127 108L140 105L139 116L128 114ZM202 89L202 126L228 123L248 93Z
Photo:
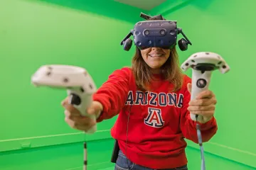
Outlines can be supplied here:
M183 85L183 88L185 89L185 91L183 93L183 106L181 108L180 127L183 133L183 136L186 139L191 140L198 144L198 136L196 133L196 121L191 120L190 113L187 110L188 103L191 100L191 94L187 89L188 83L191 83L191 79L185 76L184 85ZM207 123L198 123L198 124L200 125L200 128L201 128L201 135L202 135L203 142L208 142L208 140L210 140L218 130L217 123L214 117L210 119Z

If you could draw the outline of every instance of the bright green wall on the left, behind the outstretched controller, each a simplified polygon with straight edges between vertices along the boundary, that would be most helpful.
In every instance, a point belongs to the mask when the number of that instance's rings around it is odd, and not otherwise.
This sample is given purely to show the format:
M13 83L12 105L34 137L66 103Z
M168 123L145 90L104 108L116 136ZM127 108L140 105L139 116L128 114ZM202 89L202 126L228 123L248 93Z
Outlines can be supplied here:
M141 11L114 1L0 1L0 169L12 164L6 155L110 138L115 118L85 136L64 121L66 91L36 88L31 76L43 64L77 65L100 87L114 69L130 65L134 50L124 52L120 42Z

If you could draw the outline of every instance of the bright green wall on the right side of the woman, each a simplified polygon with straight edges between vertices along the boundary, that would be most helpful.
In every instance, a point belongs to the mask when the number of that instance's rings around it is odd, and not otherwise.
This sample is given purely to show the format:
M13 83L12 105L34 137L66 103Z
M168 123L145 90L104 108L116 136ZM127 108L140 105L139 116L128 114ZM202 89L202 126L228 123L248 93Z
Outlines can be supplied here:
M215 117L218 133L204 146L217 154L256 167L254 40L256 1L192 0L161 4L151 14L177 20L192 42L179 52L183 62L194 52L217 52L230 72L213 72L210 89L218 100ZM188 72L191 75L191 70ZM188 141L188 145L198 145Z

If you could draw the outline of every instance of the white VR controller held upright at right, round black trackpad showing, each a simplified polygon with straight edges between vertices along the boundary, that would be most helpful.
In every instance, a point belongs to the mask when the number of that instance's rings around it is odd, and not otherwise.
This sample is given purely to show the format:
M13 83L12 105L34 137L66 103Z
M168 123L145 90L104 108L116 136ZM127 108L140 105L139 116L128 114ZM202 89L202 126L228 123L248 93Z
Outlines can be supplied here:
M214 52L196 52L181 64L181 69L186 72L188 68L192 68L192 88L191 100L208 89L210 84L211 73L218 69L222 74L230 70L228 64L220 55ZM196 114L191 113L191 119L196 121ZM198 121L202 120L202 116L198 115Z

